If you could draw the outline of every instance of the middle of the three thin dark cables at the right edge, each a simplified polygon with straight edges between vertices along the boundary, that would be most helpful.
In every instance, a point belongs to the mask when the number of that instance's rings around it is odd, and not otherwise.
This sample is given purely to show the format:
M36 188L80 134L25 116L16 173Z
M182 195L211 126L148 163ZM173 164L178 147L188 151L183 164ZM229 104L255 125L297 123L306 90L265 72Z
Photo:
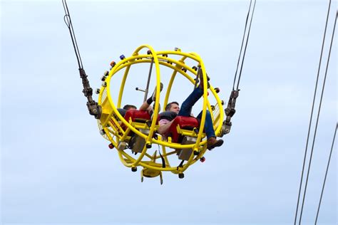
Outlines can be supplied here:
M331 3L331 1L330 1L330 3ZM335 30L335 26L336 26L336 21L337 21L337 15L336 15L336 20L334 21L334 28L333 28L333 32L332 32L332 40L331 40L331 44L330 44L330 47L329 47L329 56L327 58L327 68L329 68L329 58L331 56L332 43L333 43L333 38L334 38L334 30ZM312 162L312 154L313 154L313 149L314 149L314 142L316 140L317 127L318 127L318 122L319 122L319 114L320 114L320 109L322 108L322 99L323 99L323 95L324 95L325 82L327 80L327 68L325 70L325 75L324 75L322 94L320 95L319 110L318 110L318 114L317 114L316 127L314 128L314 136L313 136L313 141L312 141L312 149L311 149L311 154L310 154L310 158L309 158L309 167L307 169L307 180L305 182L305 187L304 187L304 196L303 196L303 202L302 202L302 209L300 211L300 216L299 216L299 224L302 221L302 213L303 213L303 208L304 208L305 195L307 193L307 182L309 180L309 172L310 172L310 169L311 169L311 162Z

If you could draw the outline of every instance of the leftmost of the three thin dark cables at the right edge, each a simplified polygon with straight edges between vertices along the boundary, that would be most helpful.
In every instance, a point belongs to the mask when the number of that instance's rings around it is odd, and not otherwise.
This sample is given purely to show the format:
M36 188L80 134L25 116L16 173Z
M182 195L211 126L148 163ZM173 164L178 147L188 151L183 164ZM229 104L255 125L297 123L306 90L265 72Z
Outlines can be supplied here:
M317 80L316 80L316 85L314 87L314 96L313 96L313 100L312 100L312 109L311 109L311 115L310 115L310 120L309 120L309 129L307 131L307 143L306 143L305 152L304 152L302 175L301 175L300 184L299 184L299 192L298 192L298 199L297 199L297 208L296 208L296 214L295 214L295 225L297 223L299 199L300 199L300 193L302 191L302 182L303 182L303 176L304 176L304 168L305 168L305 162L306 162L306 159L307 159L307 147L309 145L309 134L310 134L311 125L312 125L312 116L313 116L313 110L314 110L314 102L316 100L316 95L317 95L317 85L318 85L318 80L319 80L319 71L320 71L320 66L322 64L322 56L323 56L323 51L324 51L325 36L326 36L326 33L327 33L327 22L329 20L329 9L330 9L330 6L331 6L331 0L329 0L329 8L328 8L328 11L327 11L327 21L326 21L326 24L325 24L324 37L323 37L323 41L322 41L322 51L320 53L319 66L318 66L318 72L317 72ZM300 222L299 222L299 224L300 224Z

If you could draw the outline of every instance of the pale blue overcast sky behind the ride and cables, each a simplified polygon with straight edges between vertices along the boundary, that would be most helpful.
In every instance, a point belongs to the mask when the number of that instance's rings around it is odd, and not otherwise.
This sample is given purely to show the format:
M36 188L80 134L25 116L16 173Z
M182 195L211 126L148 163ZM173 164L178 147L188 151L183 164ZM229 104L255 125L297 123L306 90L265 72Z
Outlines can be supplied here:
M93 88L112 60L149 44L198 53L227 101L249 3L68 1L68 9ZM0 221L293 224L327 7L324 0L257 1L225 144L206 152L184 179L163 173L160 185L158 177L141 183L141 168L124 167L88 114L61 1L1 1ZM336 9L332 1L319 85ZM314 224L337 122L334 40L302 224ZM137 67L122 104L142 103L135 87L145 87L147 74ZM170 100L182 103L192 86L183 79L174 85ZM318 224L337 224L336 215L335 148Z

